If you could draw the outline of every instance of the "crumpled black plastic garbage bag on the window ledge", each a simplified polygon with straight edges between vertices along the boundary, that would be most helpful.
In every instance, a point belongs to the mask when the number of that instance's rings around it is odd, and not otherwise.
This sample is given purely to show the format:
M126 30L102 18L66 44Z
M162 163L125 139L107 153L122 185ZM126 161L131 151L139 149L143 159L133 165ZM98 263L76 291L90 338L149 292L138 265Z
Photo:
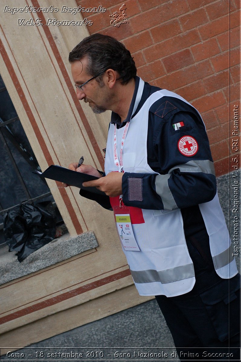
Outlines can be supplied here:
M20 262L52 241L55 231L56 214L49 201L21 204L4 215L3 233L8 251L16 251Z

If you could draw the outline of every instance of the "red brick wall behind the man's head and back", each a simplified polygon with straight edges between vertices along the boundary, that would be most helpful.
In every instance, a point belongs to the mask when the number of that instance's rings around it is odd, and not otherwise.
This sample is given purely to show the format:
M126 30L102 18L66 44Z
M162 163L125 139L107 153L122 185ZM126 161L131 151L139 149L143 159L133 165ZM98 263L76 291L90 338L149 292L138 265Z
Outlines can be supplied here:
M229 172L229 97L231 119L234 104L240 111L240 0L127 0L129 24L111 26L109 15L122 4L77 0L82 7L107 8L91 16L83 13L93 21L90 34L112 35L123 42L139 76L180 94L200 111L216 174Z

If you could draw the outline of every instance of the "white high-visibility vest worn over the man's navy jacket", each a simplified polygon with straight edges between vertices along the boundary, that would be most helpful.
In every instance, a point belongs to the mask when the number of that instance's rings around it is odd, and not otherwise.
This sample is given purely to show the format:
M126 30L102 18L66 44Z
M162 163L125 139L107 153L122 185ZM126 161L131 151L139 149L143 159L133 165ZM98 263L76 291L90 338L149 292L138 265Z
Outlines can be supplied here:
M143 88L144 81L140 79L133 114L141 99ZM124 172L157 174L147 164L148 113L150 106L164 96L179 98L189 104L168 90L159 90L151 94L130 121L123 150ZM116 131L118 155L124 128ZM107 140L105 174L117 171L113 158L114 131L115 125L111 124ZM237 267L217 194L212 201L200 204L199 207L209 235L215 270L221 278L231 278L237 274ZM186 245L180 209L142 209L142 214L143 223L132 223L140 251L123 250L139 294L176 296L192 290L195 284L194 267Z

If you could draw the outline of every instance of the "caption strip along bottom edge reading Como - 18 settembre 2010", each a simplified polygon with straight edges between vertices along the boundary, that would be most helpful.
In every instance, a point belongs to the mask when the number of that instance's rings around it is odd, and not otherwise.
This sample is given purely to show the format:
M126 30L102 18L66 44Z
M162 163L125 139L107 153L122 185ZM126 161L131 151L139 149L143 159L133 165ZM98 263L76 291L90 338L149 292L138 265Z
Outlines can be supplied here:
M175 348L13 348L1 349L2 361L173 361L179 357ZM180 358L237 361L237 350L223 348L183 348Z

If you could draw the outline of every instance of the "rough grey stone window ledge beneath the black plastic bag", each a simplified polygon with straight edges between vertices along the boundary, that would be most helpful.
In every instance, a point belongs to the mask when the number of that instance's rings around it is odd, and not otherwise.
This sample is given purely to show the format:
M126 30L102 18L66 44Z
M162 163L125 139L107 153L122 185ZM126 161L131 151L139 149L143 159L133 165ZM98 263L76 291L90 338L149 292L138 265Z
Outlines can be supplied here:
M65 234L36 250L21 263L17 260L15 253L8 252L8 246L4 246L0 249L0 285L98 246L92 231L75 237Z

